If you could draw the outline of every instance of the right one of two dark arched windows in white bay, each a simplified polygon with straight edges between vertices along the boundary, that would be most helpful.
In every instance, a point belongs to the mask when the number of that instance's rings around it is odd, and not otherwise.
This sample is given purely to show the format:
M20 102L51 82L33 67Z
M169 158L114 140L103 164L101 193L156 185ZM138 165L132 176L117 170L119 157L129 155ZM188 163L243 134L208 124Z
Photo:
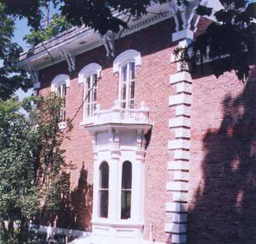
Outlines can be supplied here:
M132 164L125 161L122 167L121 219L131 218Z

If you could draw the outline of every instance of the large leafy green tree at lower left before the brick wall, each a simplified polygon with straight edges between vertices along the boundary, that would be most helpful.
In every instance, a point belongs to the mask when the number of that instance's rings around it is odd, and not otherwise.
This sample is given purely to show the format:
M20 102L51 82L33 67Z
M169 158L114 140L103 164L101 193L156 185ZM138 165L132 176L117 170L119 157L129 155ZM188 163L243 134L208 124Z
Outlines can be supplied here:
M20 114L21 107L29 116ZM0 229L10 243L31 241L29 222L58 210L61 194L69 190L61 108L55 93L0 102ZM71 128L67 121L67 131Z

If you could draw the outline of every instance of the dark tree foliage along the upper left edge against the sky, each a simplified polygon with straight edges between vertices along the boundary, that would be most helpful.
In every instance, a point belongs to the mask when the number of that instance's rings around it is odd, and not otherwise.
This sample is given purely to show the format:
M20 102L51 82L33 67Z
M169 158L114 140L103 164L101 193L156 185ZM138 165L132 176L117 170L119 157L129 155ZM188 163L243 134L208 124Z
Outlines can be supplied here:
M0 1L0 63L3 62L3 66L0 65L0 100L10 98L19 88L27 91L32 86L26 72L15 66L22 49L12 42L13 31L13 19L6 15L6 8Z

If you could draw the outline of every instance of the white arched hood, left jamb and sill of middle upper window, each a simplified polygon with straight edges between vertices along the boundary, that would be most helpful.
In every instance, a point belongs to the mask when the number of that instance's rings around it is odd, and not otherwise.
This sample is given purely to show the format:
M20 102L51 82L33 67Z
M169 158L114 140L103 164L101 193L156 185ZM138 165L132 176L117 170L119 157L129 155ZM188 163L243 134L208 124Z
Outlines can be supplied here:
M88 77L88 75L97 74L97 79L99 79L101 77L101 71L102 71L102 67L97 63L90 63L90 65L86 65L84 66L84 68L82 68L82 70L78 74L78 84L84 84L84 92L85 92L85 85L86 85L86 77ZM83 100L85 96L84 92L83 92ZM83 105L83 121L80 123L80 125L92 124L95 120L95 116L86 117L86 113L84 112L84 106L86 106L86 102Z

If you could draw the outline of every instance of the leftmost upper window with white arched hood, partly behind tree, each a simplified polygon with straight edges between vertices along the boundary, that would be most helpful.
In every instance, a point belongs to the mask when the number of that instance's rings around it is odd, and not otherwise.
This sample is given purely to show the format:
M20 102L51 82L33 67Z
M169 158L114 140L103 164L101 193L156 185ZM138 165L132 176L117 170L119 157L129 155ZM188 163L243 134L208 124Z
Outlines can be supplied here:
M61 109L61 118L66 119L66 95L67 88L70 87L70 79L68 75L57 75L51 82L51 91L56 92L63 99L63 107Z

